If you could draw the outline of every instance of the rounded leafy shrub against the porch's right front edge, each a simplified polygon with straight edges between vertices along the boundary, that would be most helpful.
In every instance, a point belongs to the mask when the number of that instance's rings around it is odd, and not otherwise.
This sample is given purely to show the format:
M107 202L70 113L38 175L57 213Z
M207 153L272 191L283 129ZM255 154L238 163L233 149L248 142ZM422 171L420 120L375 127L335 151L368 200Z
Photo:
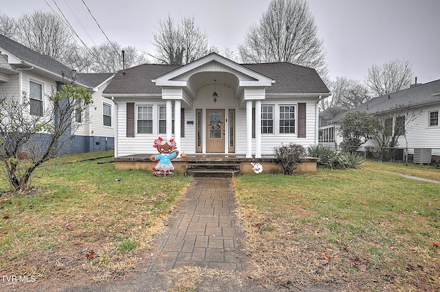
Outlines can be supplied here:
M283 166L283 173L285 175L293 175L294 170L298 167L300 157L305 156L305 149L300 144L290 143L288 145L281 144L274 148L276 159L280 161Z

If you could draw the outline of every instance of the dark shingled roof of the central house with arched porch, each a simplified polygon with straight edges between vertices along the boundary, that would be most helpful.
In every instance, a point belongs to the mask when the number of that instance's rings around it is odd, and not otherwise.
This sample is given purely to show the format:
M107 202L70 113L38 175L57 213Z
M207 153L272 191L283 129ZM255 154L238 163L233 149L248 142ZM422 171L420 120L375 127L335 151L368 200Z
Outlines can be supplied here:
M162 93L151 80L173 71L182 65L144 64L122 71L111 80L104 90L106 94L117 93ZM267 88L267 93L329 93L315 69L291 63L244 64L252 71L276 82Z

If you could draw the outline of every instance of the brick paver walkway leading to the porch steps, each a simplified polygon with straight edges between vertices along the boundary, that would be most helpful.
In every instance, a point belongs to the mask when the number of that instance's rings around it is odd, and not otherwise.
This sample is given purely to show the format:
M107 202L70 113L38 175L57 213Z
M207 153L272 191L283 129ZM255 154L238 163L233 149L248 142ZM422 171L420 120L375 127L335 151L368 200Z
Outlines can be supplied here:
M186 192L187 201L159 246L159 256L148 271L164 271L191 265L242 270L241 232L236 226L231 179L197 178ZM160 240L159 238L158 240Z

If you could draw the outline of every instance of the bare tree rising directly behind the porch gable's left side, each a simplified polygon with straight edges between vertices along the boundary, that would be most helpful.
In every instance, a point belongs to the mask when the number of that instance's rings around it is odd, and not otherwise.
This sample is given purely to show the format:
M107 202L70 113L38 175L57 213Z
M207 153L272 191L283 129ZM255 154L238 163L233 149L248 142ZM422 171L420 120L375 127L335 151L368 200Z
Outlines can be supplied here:
M159 32L153 33L151 44L155 47L152 56L159 63L179 65L188 64L208 52L208 34L201 32L192 19L182 18L179 23L168 14L165 20L159 19Z

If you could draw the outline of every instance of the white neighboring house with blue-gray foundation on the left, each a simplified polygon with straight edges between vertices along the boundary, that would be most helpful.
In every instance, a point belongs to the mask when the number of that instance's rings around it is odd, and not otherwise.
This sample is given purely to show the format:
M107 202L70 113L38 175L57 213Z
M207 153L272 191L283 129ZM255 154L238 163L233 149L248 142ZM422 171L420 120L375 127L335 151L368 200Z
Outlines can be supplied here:
M77 74L74 70L0 34L0 94L11 98L23 95L31 104L47 106L47 96L67 81L84 87L92 94L93 104L83 115L91 117L74 136L65 153L84 153L114 148L114 104L102 97L102 91L114 74ZM31 105L30 105L31 106ZM31 113L38 111L30 109ZM80 119L80 116L76 118Z

